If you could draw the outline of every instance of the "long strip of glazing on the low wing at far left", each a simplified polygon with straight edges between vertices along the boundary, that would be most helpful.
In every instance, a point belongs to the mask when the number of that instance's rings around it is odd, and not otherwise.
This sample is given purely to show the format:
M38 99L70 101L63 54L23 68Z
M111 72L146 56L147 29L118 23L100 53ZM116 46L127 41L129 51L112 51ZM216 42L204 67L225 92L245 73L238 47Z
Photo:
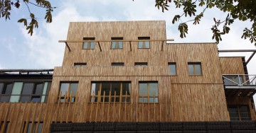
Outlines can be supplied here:
M0 83L0 102L46 102L51 82Z

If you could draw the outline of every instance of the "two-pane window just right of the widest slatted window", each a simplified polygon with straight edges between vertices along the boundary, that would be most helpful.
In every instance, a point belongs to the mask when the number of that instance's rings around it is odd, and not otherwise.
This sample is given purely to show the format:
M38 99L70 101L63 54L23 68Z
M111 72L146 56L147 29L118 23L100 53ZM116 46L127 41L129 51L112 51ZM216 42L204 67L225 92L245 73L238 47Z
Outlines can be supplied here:
M157 82L139 82L139 103L158 103Z

